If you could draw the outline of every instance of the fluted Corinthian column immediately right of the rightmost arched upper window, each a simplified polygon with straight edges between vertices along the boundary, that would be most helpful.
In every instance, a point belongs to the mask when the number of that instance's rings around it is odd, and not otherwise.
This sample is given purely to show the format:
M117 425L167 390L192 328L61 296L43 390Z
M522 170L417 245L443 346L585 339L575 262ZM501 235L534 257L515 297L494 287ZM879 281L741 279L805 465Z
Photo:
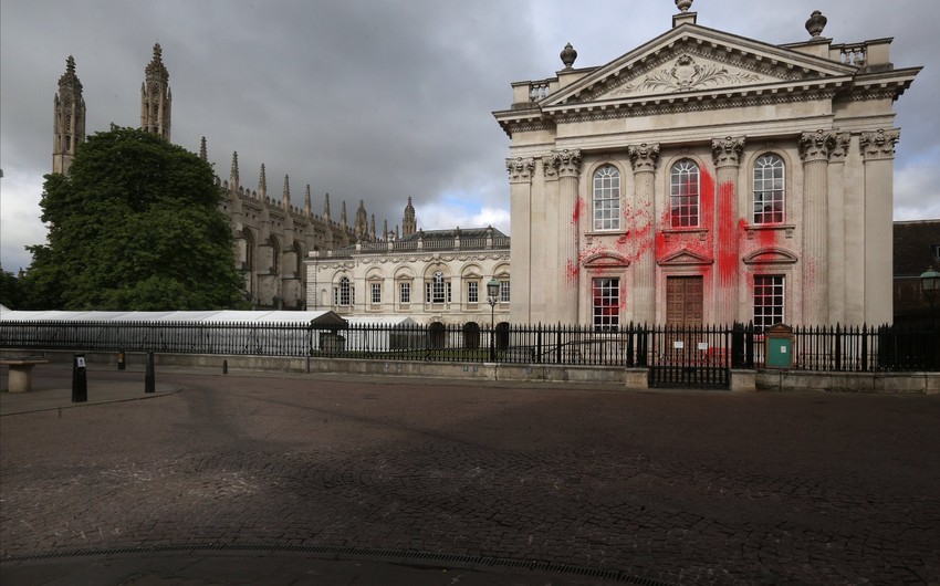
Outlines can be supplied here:
M829 322L828 165L835 133L816 130L800 137L803 159L803 321Z

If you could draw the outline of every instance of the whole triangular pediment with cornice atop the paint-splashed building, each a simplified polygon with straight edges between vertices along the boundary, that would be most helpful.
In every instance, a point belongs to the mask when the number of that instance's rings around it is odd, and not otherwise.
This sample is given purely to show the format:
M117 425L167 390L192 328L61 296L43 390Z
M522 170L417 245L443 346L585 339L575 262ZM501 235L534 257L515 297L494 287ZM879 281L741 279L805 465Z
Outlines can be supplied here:
M792 49L683 24L540 102L544 112L651 98L708 100L848 84L857 69Z

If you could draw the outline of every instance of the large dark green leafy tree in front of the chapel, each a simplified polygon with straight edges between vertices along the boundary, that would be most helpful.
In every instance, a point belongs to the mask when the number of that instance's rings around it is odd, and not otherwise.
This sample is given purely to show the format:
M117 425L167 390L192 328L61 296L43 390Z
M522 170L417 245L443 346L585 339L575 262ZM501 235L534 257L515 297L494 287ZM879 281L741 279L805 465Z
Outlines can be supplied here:
M232 231L211 166L134 128L79 146L45 176L46 244L29 247L30 305L64 310L244 306Z

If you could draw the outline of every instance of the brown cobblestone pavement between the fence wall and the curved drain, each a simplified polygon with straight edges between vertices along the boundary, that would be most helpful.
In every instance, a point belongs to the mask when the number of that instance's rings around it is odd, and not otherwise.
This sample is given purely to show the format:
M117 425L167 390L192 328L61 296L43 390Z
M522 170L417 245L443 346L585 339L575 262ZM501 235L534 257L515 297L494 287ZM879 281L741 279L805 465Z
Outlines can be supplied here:
M940 396L158 376L184 390L0 419L0 555L322 545L940 584Z

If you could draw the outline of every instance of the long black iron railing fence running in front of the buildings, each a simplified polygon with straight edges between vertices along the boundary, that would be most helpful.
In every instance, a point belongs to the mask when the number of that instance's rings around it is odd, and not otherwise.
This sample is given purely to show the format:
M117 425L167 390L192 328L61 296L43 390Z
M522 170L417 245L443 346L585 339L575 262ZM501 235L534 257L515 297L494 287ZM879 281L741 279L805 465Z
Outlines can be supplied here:
M795 327L792 368L823 372L938 370L940 341L895 326ZM672 327L359 325L299 323L0 321L0 348L331 356L623 367L763 368L764 336L751 325Z

